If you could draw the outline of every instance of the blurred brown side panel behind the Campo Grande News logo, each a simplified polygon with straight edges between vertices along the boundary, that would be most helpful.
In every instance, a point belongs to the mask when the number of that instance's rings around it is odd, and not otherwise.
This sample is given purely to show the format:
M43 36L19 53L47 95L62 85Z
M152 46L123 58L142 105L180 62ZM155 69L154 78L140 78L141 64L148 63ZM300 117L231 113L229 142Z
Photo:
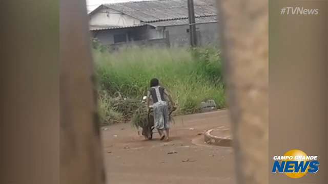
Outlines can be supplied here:
M270 0L270 154L300 149L318 155L315 174L270 183L327 183L327 1ZM283 7L318 9L318 15L281 14Z

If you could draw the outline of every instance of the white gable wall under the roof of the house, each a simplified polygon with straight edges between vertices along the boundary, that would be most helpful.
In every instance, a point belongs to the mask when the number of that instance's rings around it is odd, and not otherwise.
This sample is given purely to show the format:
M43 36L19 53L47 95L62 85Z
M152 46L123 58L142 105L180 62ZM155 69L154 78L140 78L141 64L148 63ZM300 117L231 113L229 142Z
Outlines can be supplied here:
M90 17L90 26L133 26L140 20L109 8L103 8Z

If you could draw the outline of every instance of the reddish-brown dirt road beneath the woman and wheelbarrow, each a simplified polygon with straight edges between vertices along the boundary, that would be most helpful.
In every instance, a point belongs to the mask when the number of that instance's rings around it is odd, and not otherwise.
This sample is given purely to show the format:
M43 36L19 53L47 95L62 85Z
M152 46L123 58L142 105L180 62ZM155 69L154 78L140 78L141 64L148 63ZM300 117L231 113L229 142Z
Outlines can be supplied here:
M175 117L171 141L153 141L131 124L116 124L103 130L108 183L113 184L231 184L232 148L204 144L204 131L230 126L226 110Z

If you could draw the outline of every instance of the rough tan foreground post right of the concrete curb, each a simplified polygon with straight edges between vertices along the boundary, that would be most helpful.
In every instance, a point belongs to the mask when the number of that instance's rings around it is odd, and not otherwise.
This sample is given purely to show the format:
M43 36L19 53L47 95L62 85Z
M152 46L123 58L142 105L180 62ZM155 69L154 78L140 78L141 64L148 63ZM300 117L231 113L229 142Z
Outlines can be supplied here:
M268 1L219 0L237 183L268 183Z

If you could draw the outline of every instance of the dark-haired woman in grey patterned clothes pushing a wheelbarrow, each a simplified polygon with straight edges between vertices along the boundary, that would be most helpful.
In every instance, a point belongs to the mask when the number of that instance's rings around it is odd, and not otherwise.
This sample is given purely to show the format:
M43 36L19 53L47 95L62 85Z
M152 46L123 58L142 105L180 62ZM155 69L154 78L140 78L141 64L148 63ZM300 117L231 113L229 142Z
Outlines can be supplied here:
M159 81L156 78L150 81L150 89L148 90L147 97L148 108L150 105L150 99L153 101L154 126L158 130L160 140L165 139L166 141L169 141L170 114L167 98L169 98L173 109L175 109L172 97L165 88L159 85Z

